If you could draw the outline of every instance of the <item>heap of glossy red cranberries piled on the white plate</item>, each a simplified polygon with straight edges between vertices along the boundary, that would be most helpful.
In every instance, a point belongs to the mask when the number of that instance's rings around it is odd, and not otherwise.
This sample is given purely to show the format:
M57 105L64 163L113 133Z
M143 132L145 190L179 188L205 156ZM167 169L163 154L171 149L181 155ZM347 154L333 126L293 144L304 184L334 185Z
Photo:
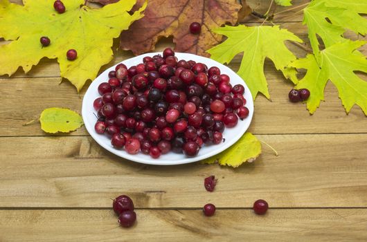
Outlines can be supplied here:
M98 93L96 132L107 133L116 149L152 158L169 151L196 156L249 115L244 86L232 86L215 66L178 60L171 48L136 66L118 64Z

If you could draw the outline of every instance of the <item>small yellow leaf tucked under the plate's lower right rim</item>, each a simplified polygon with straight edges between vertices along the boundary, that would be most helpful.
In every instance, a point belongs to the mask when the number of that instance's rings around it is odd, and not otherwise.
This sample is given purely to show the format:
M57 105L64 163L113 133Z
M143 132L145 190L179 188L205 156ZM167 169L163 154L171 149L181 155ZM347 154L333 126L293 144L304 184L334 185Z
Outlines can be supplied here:
M244 133L244 135L228 149L218 153L211 158L202 160L203 163L213 164L218 162L220 165L228 165L230 167L239 167L244 162L252 162L256 160L261 153L260 141L253 136L252 133Z

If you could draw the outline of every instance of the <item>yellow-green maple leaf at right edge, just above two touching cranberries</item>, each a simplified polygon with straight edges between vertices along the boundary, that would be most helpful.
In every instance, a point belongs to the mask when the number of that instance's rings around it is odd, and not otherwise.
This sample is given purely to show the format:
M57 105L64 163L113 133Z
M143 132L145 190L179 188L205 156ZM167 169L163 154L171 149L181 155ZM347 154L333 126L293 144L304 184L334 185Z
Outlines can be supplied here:
M322 50L319 53L319 62L310 54L290 65L307 69L305 77L296 85L296 89L309 89L311 95L307 100L307 109L310 113L314 113L319 107L323 100L323 89L330 80L337 86L347 113L357 104L367 115L367 82L354 73L355 71L367 73L367 59L356 50L364 44L365 41L346 40Z

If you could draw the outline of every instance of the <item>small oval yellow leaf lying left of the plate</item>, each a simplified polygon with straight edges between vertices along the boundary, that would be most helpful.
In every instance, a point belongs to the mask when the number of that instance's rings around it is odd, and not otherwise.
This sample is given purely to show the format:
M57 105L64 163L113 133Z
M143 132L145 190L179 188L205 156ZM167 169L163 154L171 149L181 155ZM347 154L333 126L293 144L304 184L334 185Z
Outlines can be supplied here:
M82 126L82 117L70 109L49 108L42 111L39 122L46 133L74 131Z

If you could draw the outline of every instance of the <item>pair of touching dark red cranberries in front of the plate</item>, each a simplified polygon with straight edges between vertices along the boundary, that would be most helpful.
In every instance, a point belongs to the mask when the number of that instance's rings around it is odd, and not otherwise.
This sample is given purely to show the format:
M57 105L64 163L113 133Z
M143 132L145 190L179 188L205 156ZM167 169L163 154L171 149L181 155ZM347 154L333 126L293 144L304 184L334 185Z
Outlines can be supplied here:
M118 223L120 223L122 227L132 227L132 225L134 225L136 213L134 212L134 203L129 196L118 196L114 199L112 207L118 216Z

